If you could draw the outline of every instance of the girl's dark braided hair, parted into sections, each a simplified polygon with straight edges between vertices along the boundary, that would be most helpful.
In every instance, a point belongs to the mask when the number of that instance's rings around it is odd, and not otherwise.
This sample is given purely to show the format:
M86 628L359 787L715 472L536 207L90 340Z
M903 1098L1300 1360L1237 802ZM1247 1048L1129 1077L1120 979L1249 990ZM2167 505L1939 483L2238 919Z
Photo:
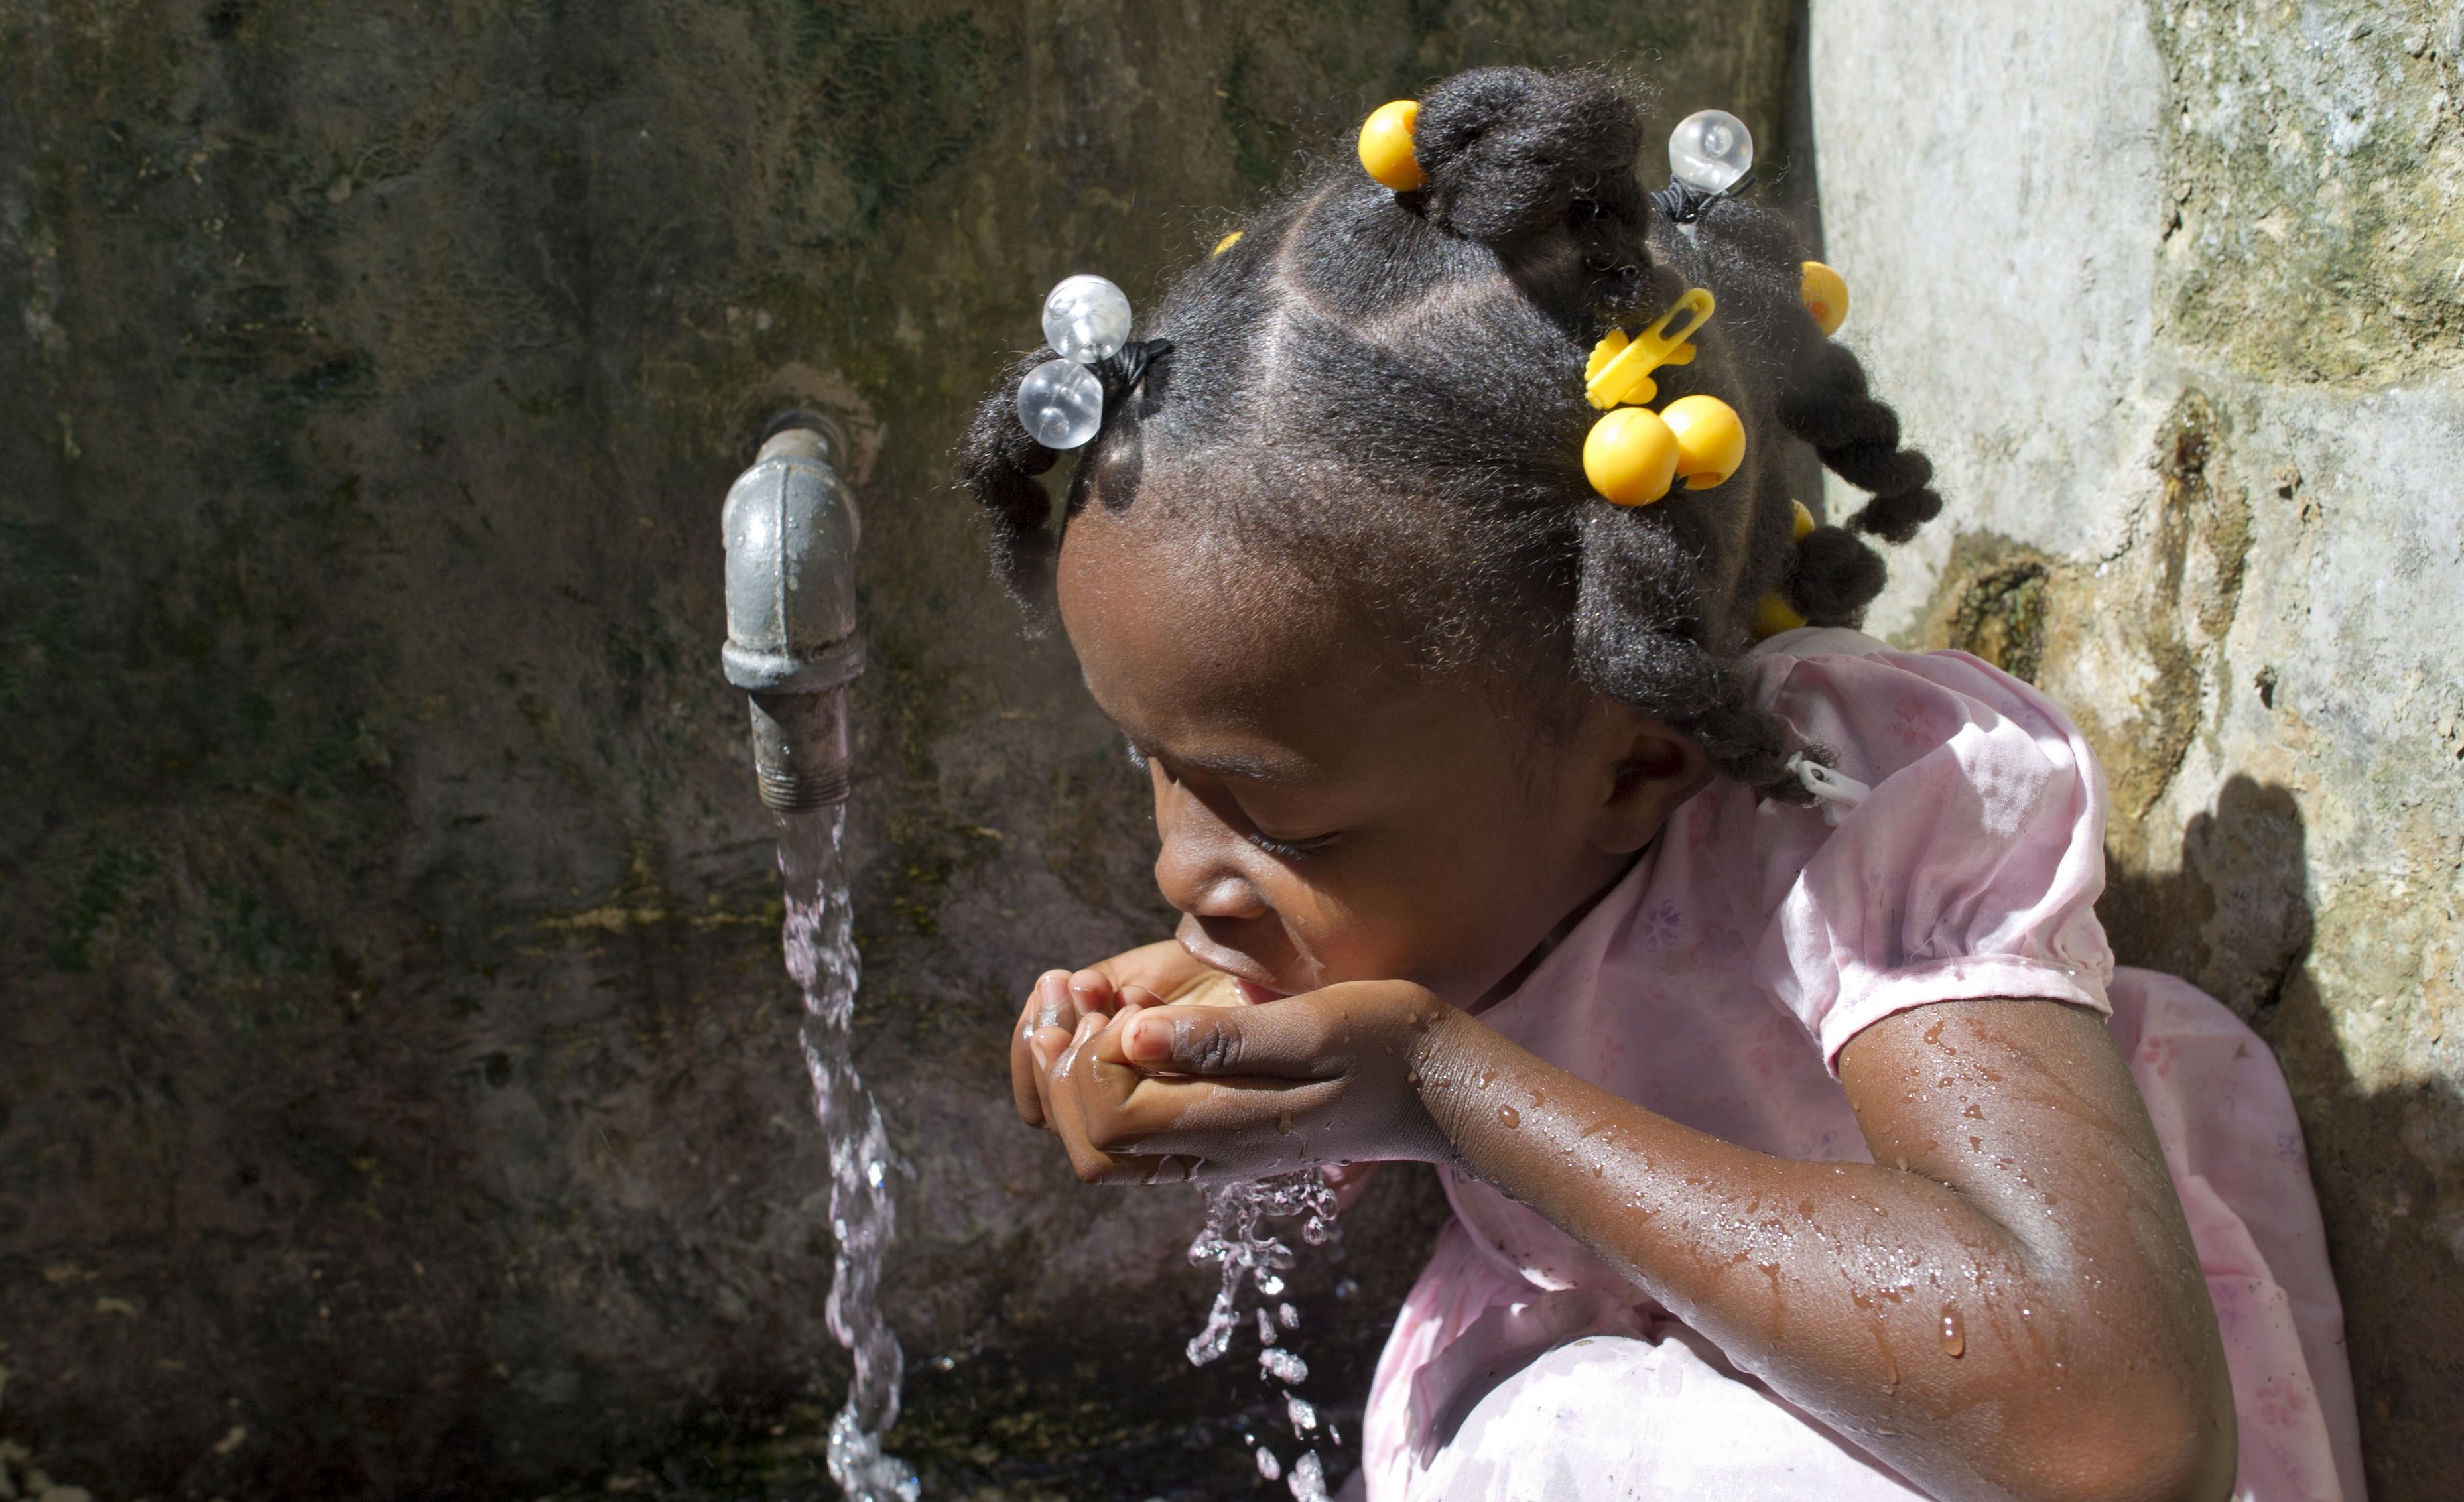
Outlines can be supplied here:
M1350 153L1311 165L1165 291L1141 332L1170 352L1106 401L1060 524L1170 505L1175 527L1338 581L1429 667L1488 660L1607 694L1801 803L1786 729L1735 672L1754 606L1777 588L1809 623L1855 623L1885 574L1855 532L1905 542L1932 520L1932 463L1804 310L1784 219L1730 197L1690 224L1653 207L1614 76L1464 71L1419 101L1414 143L1419 190L1375 185ZM1584 362L1688 286L1717 315L1695 362L1656 379L1735 406L1745 465L1609 505L1582 473L1599 416ZM995 574L1030 613L1060 542L1040 483L1057 453L1015 411L1042 359L986 396L958 456ZM1794 537L1784 436L1873 492L1848 527Z

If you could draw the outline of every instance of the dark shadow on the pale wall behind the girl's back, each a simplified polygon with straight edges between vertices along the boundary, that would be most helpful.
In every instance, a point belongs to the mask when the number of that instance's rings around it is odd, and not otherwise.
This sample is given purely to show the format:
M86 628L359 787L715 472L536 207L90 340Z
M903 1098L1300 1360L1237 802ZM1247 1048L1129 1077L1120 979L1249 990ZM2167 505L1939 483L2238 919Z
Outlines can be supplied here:
M2289 788L2235 776L2183 830L2181 869L2112 872L2097 916L2124 965L2198 982L2274 1049L2301 1113L2311 1182L2343 1293L2370 1497L2454 1495L2464 1428L2464 1093L2442 1078L2370 1086L2338 1037L2375 1005L2311 968L2309 835Z

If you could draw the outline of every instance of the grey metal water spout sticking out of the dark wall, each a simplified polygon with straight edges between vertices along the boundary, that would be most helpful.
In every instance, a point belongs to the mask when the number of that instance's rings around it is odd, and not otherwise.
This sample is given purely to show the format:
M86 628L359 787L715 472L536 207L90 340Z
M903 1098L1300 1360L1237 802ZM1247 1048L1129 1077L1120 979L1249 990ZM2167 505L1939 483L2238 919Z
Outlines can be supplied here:
M727 682L752 697L761 803L798 813L848 800L848 685L865 670L855 633L855 492L828 421L788 414L727 488Z

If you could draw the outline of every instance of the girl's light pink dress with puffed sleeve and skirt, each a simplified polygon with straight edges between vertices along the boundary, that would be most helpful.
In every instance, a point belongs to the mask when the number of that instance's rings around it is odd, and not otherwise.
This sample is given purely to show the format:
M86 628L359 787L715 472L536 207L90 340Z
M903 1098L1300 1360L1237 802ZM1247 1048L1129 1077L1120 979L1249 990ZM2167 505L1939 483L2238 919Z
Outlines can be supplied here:
M1745 670L1873 793L1833 827L1715 783L1483 1022L1730 1143L1870 1162L1833 1076L1860 1029L1947 1000L2107 1012L2225 1335L2235 1497L2361 1502L2343 1310L2292 1098L2220 1002L2114 968L2094 916L2104 781L2080 731L1976 657L1848 630L1772 638ZM1922 1497L1530 1209L1459 1175L1446 1197L1348 1495Z

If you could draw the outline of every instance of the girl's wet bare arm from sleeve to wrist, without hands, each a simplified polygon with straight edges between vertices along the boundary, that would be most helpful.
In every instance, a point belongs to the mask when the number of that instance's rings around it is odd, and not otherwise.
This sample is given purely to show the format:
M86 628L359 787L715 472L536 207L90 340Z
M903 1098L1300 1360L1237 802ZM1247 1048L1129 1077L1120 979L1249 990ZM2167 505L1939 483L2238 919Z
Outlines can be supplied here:
M1944 1002L1848 1044L1873 1165L1769 1157L1459 1012L1419 1051L1454 1160L1939 1497L2223 1497L2232 1396L2104 1022Z

